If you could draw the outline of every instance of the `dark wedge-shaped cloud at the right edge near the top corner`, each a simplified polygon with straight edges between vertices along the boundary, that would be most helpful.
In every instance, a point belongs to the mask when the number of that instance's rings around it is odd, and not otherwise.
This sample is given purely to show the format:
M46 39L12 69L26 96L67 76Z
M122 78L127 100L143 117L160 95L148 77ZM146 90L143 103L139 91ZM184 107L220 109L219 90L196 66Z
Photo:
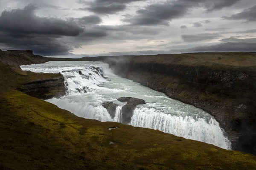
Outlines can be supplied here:
M247 22L256 21L256 6L245 9L244 11L231 15L230 17L222 17L225 20L246 20Z

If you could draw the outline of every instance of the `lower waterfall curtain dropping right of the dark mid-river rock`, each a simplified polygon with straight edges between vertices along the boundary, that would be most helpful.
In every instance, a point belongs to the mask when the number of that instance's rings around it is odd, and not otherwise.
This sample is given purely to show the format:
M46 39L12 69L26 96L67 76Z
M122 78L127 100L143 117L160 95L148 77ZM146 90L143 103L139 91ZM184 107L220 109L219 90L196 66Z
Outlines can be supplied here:
M198 140L218 147L230 149L230 142L224 136L218 122L192 116L173 116L154 108L136 108L130 125L156 129L186 139Z

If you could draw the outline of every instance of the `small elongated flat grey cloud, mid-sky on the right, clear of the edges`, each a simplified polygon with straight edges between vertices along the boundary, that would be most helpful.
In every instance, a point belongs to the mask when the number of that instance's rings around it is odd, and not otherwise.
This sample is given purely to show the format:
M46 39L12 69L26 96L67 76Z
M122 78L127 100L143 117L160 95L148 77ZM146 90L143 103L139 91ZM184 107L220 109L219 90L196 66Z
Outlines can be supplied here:
M221 37L220 34L217 33L204 33L204 34L195 34L195 35L189 35L184 34L181 35L181 38L185 42L198 42L198 41L204 41L204 40L214 40Z

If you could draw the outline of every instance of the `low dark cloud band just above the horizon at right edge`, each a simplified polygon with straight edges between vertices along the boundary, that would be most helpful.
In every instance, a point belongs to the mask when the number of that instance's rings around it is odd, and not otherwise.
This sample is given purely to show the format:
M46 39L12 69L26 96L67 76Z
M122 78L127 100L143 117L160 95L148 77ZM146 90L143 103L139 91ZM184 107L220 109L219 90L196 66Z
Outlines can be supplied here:
M256 51L256 43L227 42L218 45L200 46L187 49L191 52L230 52L230 51Z

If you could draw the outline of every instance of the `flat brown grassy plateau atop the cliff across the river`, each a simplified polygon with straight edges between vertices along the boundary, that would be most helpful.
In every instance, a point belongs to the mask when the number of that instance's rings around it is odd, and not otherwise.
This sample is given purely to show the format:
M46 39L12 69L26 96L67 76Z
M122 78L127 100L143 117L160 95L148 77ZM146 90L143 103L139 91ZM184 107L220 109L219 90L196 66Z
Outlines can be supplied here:
M219 58L220 57L220 58ZM191 53L191 54L160 54L156 56L135 56L134 60L141 62L156 62L163 64L217 66L231 67L256 66L256 53Z

